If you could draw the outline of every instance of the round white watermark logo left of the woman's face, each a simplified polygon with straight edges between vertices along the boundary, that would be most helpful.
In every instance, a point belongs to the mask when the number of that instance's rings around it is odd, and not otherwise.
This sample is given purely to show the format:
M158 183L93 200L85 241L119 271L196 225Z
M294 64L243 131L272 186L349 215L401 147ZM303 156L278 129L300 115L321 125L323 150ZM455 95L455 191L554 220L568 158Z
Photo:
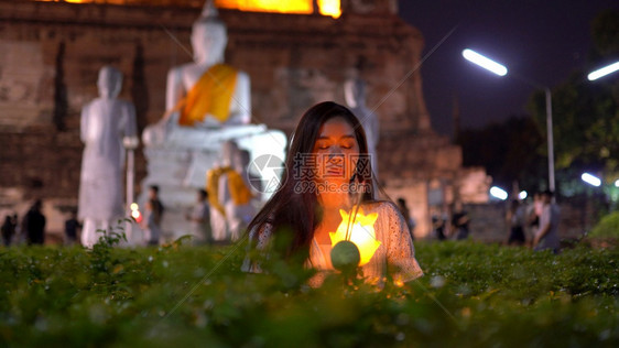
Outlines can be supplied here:
M263 194L273 194L283 186L282 177L286 165L282 159L272 154L262 154L249 163L249 184Z

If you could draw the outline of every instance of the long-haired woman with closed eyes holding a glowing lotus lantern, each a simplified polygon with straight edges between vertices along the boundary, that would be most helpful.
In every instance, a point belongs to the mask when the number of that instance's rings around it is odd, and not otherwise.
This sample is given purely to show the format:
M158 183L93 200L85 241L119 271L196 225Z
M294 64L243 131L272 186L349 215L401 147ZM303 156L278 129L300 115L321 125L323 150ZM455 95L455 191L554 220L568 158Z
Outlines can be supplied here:
M391 202L376 202L372 172L367 156L366 134L347 108L321 102L305 112L286 157L289 170L280 189L248 227L250 241L265 252L285 237L280 249L284 258L301 255L307 267L333 270L329 232L341 222L340 209L356 208L366 215L378 213L373 227L380 241L371 260L361 268L370 283L381 284L387 275L397 283L422 275L406 222ZM292 172L291 172L292 171ZM260 272L257 262L246 260L245 271ZM315 283L316 284L316 283Z

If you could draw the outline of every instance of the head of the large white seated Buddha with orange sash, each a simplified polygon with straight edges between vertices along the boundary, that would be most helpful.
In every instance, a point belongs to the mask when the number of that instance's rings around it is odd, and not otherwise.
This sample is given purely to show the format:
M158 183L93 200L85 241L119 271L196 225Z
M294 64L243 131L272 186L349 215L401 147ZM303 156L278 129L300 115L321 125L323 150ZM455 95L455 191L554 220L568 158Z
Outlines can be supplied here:
M213 65L224 62L228 43L226 24L219 19L213 1L207 1L192 28L192 48L196 64Z

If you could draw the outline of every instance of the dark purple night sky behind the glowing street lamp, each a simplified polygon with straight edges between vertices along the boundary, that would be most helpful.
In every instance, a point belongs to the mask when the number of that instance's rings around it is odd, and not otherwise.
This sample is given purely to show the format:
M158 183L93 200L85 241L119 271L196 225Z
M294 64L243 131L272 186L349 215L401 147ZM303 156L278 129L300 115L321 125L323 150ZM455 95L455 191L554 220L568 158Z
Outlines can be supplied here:
M591 20L611 8L619 9L619 1L400 0L400 17L425 39L424 55L457 25L421 67L433 128L453 133L454 96L463 129L525 115L535 88L510 73L552 88L571 72L588 69ZM510 73L499 77L465 61L466 47L501 62Z

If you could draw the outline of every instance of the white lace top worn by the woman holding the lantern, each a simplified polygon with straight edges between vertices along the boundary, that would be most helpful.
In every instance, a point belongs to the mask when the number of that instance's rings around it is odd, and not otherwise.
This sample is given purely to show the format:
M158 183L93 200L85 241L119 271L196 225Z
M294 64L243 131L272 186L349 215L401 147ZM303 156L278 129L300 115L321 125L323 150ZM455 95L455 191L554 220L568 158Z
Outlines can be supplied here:
M374 230L377 240L381 242L370 262L361 267L362 276L369 283L381 284L388 274L397 282L409 282L423 275L423 271L415 260L411 233L397 206L391 202L376 202L363 204L361 208L367 215L378 213ZM259 232L257 230L256 228L252 229L249 238L259 250L268 252L272 227L271 225L265 225L260 228ZM307 265L327 272L333 270L330 258L324 255L316 239L312 241L310 247ZM260 265L251 263L249 260L246 260L242 270L246 272L261 272ZM322 281L315 280L312 283L313 285L319 285Z

